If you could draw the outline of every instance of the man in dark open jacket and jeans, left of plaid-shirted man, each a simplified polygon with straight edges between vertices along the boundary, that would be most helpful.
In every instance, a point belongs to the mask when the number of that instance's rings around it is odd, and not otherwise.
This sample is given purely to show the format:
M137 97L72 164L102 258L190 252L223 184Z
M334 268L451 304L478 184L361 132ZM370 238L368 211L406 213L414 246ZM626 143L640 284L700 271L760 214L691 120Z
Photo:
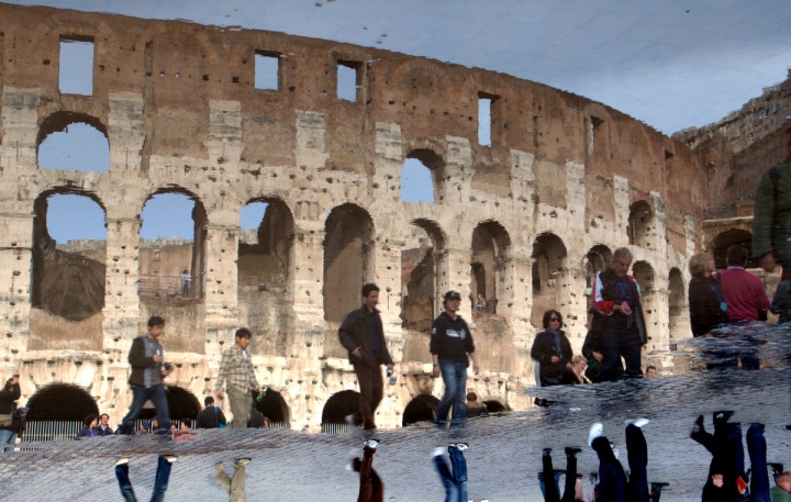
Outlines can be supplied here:
M170 410L163 386L163 379L170 375L170 369L163 366L164 350L158 341L164 328L165 320L153 316L148 320L148 333L132 342L129 354L132 366L129 379L129 384L132 386L132 405L123 419L121 434L132 434L134 422L148 400L154 403L161 431L170 431Z

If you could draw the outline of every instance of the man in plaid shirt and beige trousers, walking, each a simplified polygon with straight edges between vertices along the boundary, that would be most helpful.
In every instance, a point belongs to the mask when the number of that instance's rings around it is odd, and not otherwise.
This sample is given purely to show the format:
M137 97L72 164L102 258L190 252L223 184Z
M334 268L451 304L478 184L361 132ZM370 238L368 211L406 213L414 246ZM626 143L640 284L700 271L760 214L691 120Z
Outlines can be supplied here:
M232 428L247 428L247 414L253 405L253 390L264 392L253 371L253 361L247 353L253 333L246 327L236 331L236 344L223 353L220 372L214 383L214 394L222 399L222 386L226 383L229 401L231 401Z

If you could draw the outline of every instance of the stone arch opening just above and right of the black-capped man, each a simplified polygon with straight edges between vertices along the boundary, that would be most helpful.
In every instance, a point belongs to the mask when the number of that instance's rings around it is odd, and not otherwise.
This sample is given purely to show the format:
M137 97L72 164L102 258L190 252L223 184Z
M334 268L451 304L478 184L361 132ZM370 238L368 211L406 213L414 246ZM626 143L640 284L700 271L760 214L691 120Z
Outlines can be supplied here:
M475 304L478 294L486 300L486 313L495 314L498 304L504 306L510 300L504 271L511 254L511 236L500 223L489 220L472 231L470 256L470 300ZM480 310L474 308L474 312Z

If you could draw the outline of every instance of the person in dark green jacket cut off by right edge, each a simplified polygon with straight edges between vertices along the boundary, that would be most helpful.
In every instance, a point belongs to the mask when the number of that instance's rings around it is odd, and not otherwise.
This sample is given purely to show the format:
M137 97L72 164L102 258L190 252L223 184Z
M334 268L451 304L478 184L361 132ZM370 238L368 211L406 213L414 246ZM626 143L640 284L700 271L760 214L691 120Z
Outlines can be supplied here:
M753 255L766 271L779 261L791 274L791 136L789 158L761 178L753 219Z

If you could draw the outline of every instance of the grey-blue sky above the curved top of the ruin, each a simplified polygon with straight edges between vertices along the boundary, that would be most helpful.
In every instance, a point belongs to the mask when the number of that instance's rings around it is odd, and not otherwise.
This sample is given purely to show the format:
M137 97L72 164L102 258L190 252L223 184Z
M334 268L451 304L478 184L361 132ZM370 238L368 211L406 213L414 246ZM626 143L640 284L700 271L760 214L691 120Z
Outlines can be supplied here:
M8 3L270 30L425 56L584 96L668 135L718 121L784 80L791 66L788 0ZM191 222L186 228L191 235Z

